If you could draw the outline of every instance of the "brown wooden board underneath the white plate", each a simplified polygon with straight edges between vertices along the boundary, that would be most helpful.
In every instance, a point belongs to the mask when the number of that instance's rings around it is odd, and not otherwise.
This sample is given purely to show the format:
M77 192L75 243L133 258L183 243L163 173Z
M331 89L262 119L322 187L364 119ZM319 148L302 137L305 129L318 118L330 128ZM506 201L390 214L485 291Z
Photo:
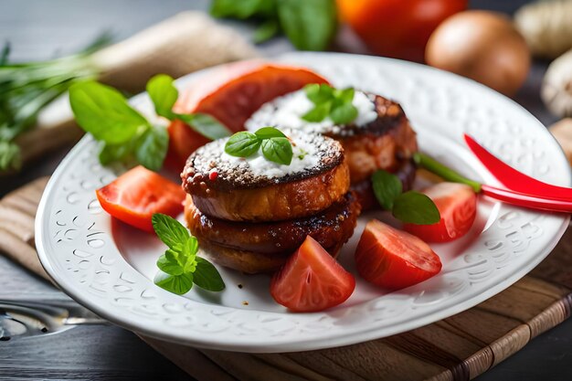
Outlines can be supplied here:
M0 201L0 250L46 277L34 216L48 178ZM572 229L535 270L507 290L437 323L362 344L285 354L203 350L142 337L197 380L468 380L570 315Z

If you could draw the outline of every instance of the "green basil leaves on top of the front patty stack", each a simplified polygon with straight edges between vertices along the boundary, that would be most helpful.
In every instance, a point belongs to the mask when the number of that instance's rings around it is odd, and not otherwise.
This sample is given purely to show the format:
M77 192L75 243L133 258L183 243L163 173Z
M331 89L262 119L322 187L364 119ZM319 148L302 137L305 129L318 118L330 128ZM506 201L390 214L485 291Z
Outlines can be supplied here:
M225 152L231 156L249 157L259 152L270 162L290 165L292 161L292 146L290 140L280 130L274 127L262 127L257 132L237 132L228 138Z

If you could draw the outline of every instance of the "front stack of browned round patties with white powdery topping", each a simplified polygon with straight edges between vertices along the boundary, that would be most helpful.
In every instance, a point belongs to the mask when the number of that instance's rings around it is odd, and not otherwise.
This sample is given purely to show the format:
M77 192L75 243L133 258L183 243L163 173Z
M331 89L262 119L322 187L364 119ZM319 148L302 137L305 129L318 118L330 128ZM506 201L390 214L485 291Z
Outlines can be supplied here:
M312 236L335 256L355 228L360 205L349 192L342 145L301 130L290 165L224 152L226 139L199 148L181 174L185 218L201 249L217 263L248 273L280 268Z

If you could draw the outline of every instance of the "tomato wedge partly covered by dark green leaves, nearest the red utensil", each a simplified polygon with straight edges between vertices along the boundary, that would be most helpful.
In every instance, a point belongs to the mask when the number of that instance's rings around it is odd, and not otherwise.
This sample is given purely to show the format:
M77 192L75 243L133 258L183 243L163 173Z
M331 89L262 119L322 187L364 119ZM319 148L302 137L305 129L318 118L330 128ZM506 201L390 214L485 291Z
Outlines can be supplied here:
M405 224L404 229L428 242L449 242L467 234L477 216L477 196L471 186L440 183L422 192L433 200L441 219L433 225Z

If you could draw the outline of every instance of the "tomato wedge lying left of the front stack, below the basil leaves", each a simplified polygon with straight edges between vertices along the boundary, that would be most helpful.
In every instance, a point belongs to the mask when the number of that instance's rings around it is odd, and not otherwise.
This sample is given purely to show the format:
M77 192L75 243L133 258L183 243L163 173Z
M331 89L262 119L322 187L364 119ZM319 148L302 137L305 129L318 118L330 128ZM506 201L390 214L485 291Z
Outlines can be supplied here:
M176 217L183 211L181 185L139 165L95 191L101 207L112 217L153 232L151 217L163 213Z

